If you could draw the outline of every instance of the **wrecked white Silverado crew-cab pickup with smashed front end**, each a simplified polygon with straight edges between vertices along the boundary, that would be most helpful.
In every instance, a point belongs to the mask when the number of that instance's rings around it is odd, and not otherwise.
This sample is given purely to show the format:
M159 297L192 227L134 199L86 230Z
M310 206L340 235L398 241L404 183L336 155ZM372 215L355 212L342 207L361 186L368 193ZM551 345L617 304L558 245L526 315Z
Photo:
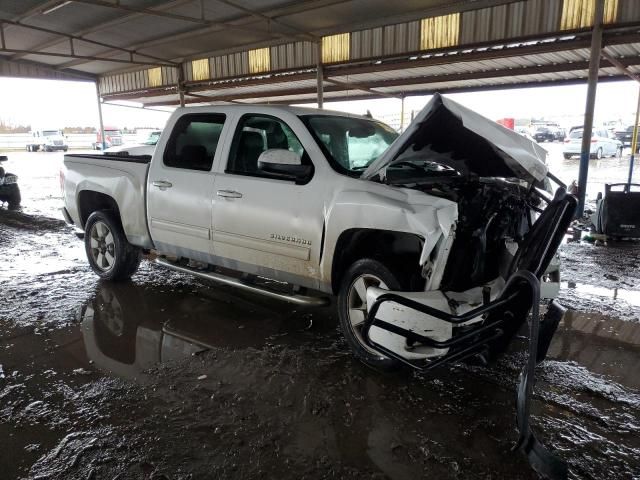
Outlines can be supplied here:
M401 136L326 110L180 108L152 156L65 155L63 214L103 279L131 277L152 252L165 267L297 304L336 295L360 359L429 363L455 353L456 339L486 314L455 323L378 300L402 292L461 315L504 296L525 261L557 287L556 230L570 214L536 222L545 203L559 201L545 190L545 155L439 95ZM400 330L366 325L373 303ZM515 331L506 330L510 339ZM487 342L472 353L501 349Z

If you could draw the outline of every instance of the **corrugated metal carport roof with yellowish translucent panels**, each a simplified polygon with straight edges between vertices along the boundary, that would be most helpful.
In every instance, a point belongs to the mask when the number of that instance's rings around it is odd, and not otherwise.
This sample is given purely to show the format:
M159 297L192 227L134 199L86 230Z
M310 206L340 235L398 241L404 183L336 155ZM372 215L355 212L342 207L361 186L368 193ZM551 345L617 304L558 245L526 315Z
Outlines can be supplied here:
M595 0L0 2L0 75L97 80L145 105L303 103L583 82ZM640 1L604 50L640 74ZM601 79L624 78L606 58Z

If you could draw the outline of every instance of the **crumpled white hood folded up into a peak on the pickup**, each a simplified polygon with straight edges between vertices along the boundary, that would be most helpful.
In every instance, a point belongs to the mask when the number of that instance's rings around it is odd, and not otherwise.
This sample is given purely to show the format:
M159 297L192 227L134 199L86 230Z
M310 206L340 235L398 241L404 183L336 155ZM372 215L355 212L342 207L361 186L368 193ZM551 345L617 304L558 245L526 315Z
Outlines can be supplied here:
M390 163L419 158L463 174L542 181L546 156L537 143L436 93L361 178L385 178Z

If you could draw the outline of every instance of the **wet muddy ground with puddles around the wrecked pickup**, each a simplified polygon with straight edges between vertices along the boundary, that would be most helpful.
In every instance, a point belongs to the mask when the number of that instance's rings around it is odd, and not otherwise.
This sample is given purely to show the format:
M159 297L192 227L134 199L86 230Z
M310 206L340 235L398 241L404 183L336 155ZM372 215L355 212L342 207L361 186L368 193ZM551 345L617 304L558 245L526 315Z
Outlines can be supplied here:
M24 207L0 207L0 478L537 478L510 453L523 344L491 368L381 374L349 354L333 306L147 262L98 282L56 212L60 156L11 158ZM640 478L640 248L561 256L572 310L534 428L571 478Z

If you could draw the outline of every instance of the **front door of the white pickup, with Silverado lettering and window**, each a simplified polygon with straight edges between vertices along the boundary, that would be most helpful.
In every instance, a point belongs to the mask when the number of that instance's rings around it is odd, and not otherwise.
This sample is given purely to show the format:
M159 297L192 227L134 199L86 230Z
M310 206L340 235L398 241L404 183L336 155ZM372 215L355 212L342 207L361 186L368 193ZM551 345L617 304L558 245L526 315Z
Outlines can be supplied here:
M215 254L231 268L313 284L320 276L325 189L317 175L301 185L259 170L260 154L274 148L296 152L303 164L312 164L283 120L266 114L239 118L226 165L216 177Z

